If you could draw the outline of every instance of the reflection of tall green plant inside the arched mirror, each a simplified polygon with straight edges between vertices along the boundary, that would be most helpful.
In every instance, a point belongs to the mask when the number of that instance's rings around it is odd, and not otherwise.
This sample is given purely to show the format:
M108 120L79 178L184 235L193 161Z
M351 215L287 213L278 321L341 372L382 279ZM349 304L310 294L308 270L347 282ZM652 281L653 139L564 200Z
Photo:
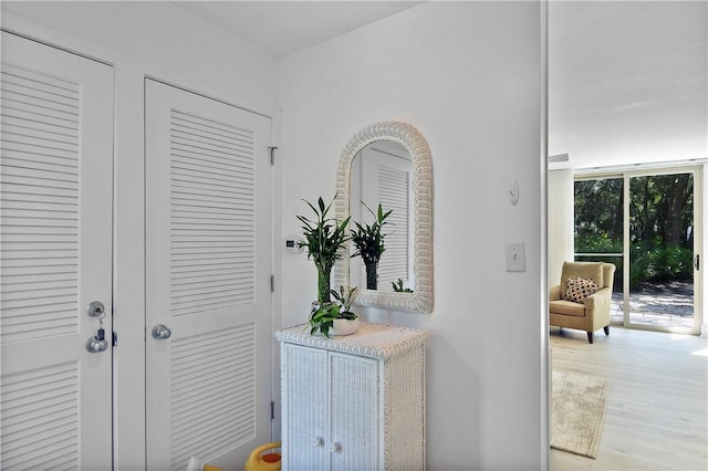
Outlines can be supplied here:
M351 230L351 239L356 251L352 254L352 258L361 257L364 262L364 266L366 268L366 289L377 290L378 262L381 261L381 255L386 250L384 245L386 234L382 232L382 229L387 224L386 218L391 216L393 209L384 212L381 203L378 203L378 210L374 212L364 201L362 201L362 205L372 213L374 222L372 224L360 224L354 221L356 230Z

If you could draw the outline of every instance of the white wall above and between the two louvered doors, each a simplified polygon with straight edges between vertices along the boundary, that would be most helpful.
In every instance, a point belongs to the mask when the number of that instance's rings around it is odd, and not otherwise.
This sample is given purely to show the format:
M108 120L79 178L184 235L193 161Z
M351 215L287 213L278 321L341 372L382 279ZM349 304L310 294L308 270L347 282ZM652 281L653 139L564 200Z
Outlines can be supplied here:
M167 2L2 2L2 27L114 66L115 457L144 469L144 77L275 116L275 57Z

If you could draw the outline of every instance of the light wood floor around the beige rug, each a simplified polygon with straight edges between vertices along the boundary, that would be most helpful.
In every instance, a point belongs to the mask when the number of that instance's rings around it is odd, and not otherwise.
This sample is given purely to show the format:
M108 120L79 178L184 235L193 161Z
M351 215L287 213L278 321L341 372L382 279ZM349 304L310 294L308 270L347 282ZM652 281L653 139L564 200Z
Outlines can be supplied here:
M551 449L551 470L708 470L705 337L551 327L551 348L554 370L610 380L597 459Z

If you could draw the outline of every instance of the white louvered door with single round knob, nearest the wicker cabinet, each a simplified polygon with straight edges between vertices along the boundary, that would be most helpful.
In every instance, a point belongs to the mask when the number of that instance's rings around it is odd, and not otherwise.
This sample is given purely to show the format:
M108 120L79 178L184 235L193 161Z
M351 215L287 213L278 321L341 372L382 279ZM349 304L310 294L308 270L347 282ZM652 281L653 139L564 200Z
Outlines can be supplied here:
M271 441L270 119L147 80L145 127L147 468L238 469Z

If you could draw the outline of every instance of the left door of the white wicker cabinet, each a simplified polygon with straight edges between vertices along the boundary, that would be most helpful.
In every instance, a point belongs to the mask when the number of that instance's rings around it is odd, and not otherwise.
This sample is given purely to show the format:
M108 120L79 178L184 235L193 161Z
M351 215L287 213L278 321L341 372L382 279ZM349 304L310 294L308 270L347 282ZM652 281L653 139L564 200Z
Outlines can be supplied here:
M282 346L283 468L329 469L327 352Z

